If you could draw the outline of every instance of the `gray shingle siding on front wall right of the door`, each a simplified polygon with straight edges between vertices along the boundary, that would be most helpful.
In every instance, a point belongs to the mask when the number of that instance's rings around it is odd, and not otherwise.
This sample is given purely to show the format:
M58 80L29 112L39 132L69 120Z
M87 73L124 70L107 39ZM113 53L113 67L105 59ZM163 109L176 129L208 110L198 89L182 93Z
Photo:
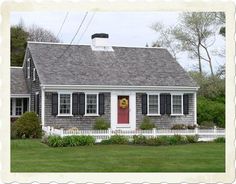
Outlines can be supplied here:
M145 115L142 114L142 94L136 94L136 127L139 128ZM189 94L189 114L183 116L150 116L157 128L171 128L174 124L194 125L194 95Z

